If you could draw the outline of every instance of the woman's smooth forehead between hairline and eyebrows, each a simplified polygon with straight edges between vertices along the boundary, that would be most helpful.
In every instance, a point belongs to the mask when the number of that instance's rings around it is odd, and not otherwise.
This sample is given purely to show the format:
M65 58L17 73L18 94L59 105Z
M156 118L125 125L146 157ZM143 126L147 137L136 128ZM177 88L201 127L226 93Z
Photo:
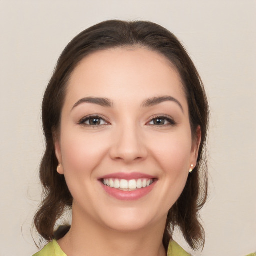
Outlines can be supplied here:
M129 47L96 51L82 59L70 76L66 99L142 100L161 95L184 99L178 72L161 54Z

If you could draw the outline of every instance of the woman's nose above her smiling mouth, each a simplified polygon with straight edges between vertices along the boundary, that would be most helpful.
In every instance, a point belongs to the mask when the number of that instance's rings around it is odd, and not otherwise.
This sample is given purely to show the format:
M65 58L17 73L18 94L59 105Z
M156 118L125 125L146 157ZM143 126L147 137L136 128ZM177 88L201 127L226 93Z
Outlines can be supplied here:
M142 132L135 125L123 126L113 134L110 157L126 164L144 160L148 152Z

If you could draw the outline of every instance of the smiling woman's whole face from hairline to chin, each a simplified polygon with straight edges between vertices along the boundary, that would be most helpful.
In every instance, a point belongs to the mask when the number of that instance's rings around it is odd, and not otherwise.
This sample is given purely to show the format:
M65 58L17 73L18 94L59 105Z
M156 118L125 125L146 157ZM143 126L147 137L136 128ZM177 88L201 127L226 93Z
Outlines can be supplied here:
M143 48L85 57L55 142L73 216L116 230L164 225L196 164L192 141L180 77L165 57Z

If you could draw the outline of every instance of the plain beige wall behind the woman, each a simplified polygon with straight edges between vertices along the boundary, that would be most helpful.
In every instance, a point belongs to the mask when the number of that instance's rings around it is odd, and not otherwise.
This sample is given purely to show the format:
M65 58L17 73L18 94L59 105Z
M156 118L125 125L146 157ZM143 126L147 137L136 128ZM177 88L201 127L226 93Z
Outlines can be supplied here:
M196 255L255 251L255 0L0 0L0 256L37 250L30 227L40 201L40 102L56 60L78 32L115 18L174 32L205 83L210 194Z

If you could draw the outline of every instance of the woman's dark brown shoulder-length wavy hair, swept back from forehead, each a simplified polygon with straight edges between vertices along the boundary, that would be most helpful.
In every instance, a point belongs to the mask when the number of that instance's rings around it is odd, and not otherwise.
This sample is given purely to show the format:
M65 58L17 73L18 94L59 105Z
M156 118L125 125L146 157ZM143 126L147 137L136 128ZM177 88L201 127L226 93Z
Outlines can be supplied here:
M72 195L64 175L56 171L58 164L54 139L58 136L61 109L70 74L79 61L95 51L116 47L143 47L165 56L179 73L189 107L193 138L201 127L201 143L197 164L189 174L185 188L169 210L163 234L163 244L168 246L174 227L183 233L193 249L204 244L204 230L198 220L199 209L207 197L207 165L204 145L208 125L208 103L199 74L178 39L167 29L152 22L108 20L78 34L60 55L54 73L46 88L42 102L42 122L46 141L40 165L43 200L34 217L34 225L46 240L54 236L57 219L72 206ZM60 236L65 234L62 233Z

